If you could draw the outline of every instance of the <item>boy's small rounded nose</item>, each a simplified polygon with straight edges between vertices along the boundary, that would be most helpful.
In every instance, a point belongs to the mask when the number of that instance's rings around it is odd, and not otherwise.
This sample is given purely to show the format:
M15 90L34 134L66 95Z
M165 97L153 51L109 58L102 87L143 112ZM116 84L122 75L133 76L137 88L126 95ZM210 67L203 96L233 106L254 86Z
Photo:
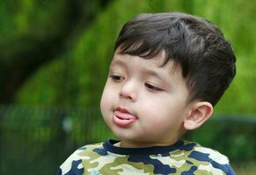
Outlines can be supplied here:
M137 87L135 81L126 81L121 87L120 98L128 99L132 102L135 102L137 97Z

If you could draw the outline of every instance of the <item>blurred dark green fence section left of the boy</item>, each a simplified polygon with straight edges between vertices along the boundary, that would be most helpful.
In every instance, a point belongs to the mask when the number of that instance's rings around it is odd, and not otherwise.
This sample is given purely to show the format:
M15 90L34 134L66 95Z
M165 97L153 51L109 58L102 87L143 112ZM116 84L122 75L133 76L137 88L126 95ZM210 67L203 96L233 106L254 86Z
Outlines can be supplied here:
M0 174L55 174L78 147L112 137L99 109L0 107Z

